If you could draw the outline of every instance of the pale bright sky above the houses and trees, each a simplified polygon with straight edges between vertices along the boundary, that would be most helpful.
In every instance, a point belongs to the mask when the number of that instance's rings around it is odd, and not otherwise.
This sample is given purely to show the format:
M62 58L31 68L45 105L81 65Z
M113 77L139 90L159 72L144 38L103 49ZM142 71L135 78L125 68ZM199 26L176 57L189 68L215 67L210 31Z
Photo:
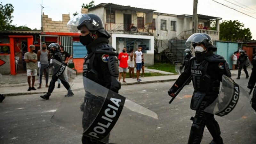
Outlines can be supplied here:
M0 0L3 4L14 6L13 25L27 25L31 29L41 27L41 4L43 12L54 21L61 21L62 14L70 14L81 11L83 3L89 4L91 0ZM131 7L156 10L156 12L168 14L193 14L193 0L93 0L95 5L100 3L113 3L130 5ZM216 2L221 4L218 4ZM233 3L233 4L231 4ZM227 5L233 9L223 6ZM242 14L241 11L245 14ZM197 13L222 18L222 20L238 20L244 23L244 28L250 28L252 39L256 40L256 0L198 0ZM249 16L248 16L249 15ZM220 22L222 21L220 20Z

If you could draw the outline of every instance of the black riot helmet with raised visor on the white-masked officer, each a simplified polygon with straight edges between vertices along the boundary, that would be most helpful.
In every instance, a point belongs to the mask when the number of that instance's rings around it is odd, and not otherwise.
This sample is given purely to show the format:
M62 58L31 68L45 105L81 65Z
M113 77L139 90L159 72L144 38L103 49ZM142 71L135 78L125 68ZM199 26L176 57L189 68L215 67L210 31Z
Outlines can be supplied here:
M195 44L203 43L208 50L213 52L217 51L217 47L212 44L212 38L206 33L194 33L186 41L186 46L192 45L195 48Z

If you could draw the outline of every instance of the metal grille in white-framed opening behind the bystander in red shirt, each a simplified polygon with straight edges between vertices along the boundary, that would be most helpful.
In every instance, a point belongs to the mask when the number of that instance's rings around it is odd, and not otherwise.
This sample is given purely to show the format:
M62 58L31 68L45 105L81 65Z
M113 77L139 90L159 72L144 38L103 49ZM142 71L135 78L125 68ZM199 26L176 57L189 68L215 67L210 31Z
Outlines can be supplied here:
M139 46L142 47L142 53L146 53L149 50L149 40L148 39L136 39L136 38L116 38L116 41L124 41L124 44L127 48L127 52L130 51L131 48L137 50Z

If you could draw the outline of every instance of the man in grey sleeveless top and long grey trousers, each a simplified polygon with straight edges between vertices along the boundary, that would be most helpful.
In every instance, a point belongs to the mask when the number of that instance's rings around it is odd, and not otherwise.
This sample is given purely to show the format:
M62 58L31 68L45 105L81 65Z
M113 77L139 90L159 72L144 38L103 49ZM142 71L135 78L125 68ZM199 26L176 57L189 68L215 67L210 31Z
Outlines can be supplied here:
M46 44L42 42L42 49L37 51L37 61L39 63L39 86L37 89L41 89L42 87L42 77L43 74L45 74L45 87L48 86L48 79L49 79L49 71L44 71L44 68L47 68L49 66L49 55L50 51L46 49Z

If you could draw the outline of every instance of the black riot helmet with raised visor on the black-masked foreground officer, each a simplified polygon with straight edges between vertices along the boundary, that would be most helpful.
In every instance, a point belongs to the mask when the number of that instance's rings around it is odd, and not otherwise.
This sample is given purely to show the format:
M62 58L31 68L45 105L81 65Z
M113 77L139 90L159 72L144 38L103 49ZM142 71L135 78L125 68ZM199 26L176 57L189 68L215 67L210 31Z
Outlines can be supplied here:
M86 26L91 32L99 32L101 37L110 38L109 33L104 29L102 19L96 14L78 14L68 21L67 27L71 32L80 31L82 26Z

